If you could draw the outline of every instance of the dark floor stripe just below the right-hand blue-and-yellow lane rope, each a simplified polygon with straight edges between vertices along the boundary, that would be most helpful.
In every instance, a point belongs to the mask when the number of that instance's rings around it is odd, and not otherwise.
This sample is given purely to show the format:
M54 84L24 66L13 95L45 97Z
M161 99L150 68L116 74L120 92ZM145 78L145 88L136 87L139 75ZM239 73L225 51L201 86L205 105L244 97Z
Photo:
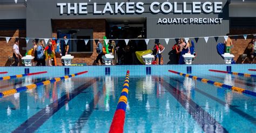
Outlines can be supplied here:
M174 78L171 78L171 77L169 77L169 78L170 78L171 80L174 80L174 81L178 82L179 84L182 84L182 82L180 82L180 81L177 80L177 79L174 79ZM219 104L221 104L221 105L223 105L223 106L228 105L228 107L229 107L231 110L233 110L233 112L239 114L241 117L244 117L244 119L250 121L250 122L253 123L254 125L256 124L256 118L253 117L253 116L251 116L250 114L245 113L243 110L237 108L236 106L227 104L227 102L225 102L225 101L223 101L223 100L221 100L221 99L218 99L218 98L214 97L213 95L208 94L207 92L201 91L201 90L200 90L199 88L197 88L197 87L193 87L193 88L194 88L195 91L197 91L197 92L199 92L199 93L205 95L206 97L208 97L208 98L210 98L210 99L212 99L212 100L214 100L214 101L217 101ZM218 89L221 89L221 88L218 88Z

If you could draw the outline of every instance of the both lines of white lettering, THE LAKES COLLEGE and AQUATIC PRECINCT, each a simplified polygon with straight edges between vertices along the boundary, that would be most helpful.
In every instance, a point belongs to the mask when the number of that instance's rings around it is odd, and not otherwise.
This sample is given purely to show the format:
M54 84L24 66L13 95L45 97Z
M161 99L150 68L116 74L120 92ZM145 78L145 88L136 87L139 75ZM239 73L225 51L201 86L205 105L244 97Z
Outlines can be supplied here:
M90 5L90 6L89 6ZM223 2L152 2L145 5L143 2L115 2L115 3L57 3L60 14L125 14L145 12L145 6L150 6L149 10L153 14L158 13L221 13ZM93 9L88 9L89 7ZM91 11L91 12L89 12ZM221 24L223 18L159 18L157 24Z

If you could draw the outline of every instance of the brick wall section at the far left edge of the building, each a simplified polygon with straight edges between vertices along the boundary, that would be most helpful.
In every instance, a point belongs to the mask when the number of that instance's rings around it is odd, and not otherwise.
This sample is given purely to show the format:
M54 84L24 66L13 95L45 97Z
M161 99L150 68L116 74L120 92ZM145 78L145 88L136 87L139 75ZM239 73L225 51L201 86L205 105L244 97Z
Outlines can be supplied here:
M0 67L3 66L10 66L12 63L11 60L8 60L10 56L12 56L13 53L13 46L15 38L24 38L26 36L25 30L0 30L0 36L9 36L12 37L9 41L9 43L6 43L5 38L0 38ZM26 41L25 39L19 40L19 51L22 55L25 55L26 50L22 50L22 47L26 47ZM19 65L22 65L21 62Z

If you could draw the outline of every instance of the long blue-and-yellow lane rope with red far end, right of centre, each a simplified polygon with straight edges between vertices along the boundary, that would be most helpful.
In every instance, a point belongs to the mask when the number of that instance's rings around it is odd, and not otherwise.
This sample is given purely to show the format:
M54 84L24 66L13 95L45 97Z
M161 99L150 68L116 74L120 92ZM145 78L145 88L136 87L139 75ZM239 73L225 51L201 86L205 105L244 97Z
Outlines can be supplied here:
M199 77L192 76L192 75L186 75L184 73L180 73L180 72L177 72L177 71L169 70L169 72L175 73L175 74L183 76L183 77L192 78L194 80L198 80L198 81L203 82L203 83L208 83L208 84L211 84L211 85L215 85L217 87L228 88L228 89L233 90L233 91L237 91L237 92L240 92L240 93L244 93L244 94L248 94L248 95L252 95L252 96L256 97L256 92L248 91L248 90L245 90L244 88L230 86L230 85L226 85L226 84L219 83L219 82L214 82L212 80L199 78Z

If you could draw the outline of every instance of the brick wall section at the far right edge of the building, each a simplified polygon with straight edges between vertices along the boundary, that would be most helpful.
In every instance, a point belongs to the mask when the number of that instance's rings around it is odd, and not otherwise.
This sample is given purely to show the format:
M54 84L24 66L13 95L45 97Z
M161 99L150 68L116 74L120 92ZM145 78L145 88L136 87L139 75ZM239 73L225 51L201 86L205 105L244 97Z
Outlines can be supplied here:
M256 27L255 28L230 28L230 33L232 35L254 34L256 33ZM248 43L252 40L252 38L256 38L256 37L253 35L248 35L246 40L244 39L244 36L231 38L234 45L234 47L231 50L231 53L235 56L234 60L237 61L237 63L241 62L240 55L244 53L245 48L248 46ZM245 63L248 63L248 62L246 61Z

